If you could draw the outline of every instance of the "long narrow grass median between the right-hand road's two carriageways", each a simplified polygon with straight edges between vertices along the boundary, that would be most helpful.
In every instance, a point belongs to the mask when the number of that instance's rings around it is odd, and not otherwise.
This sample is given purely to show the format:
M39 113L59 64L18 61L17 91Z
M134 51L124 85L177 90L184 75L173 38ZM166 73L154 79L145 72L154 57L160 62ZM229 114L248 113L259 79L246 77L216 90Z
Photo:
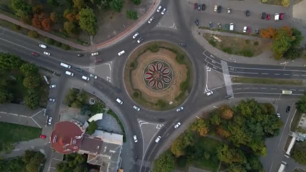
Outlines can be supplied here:
M258 78L258 77L232 77L234 83L260 83L260 84L276 84L276 85L303 85L302 80L287 80L287 79L272 79L272 78Z

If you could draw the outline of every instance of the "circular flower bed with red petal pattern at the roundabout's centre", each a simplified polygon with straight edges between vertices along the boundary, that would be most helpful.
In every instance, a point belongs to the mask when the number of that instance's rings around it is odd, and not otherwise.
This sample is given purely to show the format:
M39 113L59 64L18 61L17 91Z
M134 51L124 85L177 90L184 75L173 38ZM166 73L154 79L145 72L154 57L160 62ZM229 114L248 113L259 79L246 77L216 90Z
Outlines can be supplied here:
M163 60L151 61L143 69L143 81L151 90L163 91L169 88L173 80L171 66Z

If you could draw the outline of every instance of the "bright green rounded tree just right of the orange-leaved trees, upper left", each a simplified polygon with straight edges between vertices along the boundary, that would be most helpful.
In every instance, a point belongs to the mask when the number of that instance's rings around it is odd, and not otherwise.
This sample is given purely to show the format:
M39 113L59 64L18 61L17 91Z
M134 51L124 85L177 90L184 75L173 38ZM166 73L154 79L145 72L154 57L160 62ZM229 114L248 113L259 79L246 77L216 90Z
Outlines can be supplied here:
M97 32L97 18L93 9L86 8L79 12L80 20L79 25L81 29L88 31L91 35Z

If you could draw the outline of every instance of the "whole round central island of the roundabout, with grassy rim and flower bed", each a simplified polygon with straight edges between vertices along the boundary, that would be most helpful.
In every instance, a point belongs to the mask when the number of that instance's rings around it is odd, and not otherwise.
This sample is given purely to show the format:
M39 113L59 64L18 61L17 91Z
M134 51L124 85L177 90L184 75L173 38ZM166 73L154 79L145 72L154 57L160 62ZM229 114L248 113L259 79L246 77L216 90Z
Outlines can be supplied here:
M192 63L178 46L162 41L135 49L124 68L129 96L150 110L169 110L182 104L193 83Z

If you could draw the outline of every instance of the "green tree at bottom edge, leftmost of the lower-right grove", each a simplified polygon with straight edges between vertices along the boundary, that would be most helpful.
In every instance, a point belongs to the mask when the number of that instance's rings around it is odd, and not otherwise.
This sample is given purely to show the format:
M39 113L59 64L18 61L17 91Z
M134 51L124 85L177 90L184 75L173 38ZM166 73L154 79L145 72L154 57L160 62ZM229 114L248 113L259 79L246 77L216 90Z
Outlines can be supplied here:
M171 152L162 153L155 161L153 172L169 172L174 170L175 158Z

